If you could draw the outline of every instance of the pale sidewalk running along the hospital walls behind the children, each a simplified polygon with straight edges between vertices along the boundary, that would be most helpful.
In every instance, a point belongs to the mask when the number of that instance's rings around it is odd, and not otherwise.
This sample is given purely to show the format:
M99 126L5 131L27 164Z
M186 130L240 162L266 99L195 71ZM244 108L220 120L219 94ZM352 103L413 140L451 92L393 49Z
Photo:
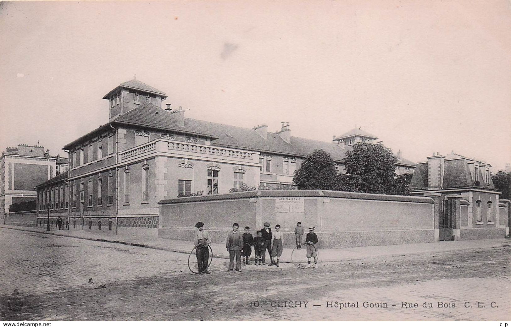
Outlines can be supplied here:
M21 227L13 225L0 225L0 228L21 230L42 234L52 234L66 237L74 237L91 241L120 243L133 246L149 247L165 251L173 251L180 253L190 253L194 244L192 241L179 241L170 239L149 239L141 237L132 237L126 235L99 235L83 231L67 231L53 230L44 231L35 227ZM458 250L482 249L499 247L504 244L511 245L511 239L487 239L487 240L470 240L470 241L444 241L435 243L417 243L417 244L398 244L398 245L379 245L350 247L338 249L321 249L319 250L319 260L321 262L337 262L370 259L378 257L402 257L407 255L419 255L428 253L441 253ZM229 255L224 244L211 244L213 256L216 258L228 259ZM291 250L284 249L281 262L291 262Z

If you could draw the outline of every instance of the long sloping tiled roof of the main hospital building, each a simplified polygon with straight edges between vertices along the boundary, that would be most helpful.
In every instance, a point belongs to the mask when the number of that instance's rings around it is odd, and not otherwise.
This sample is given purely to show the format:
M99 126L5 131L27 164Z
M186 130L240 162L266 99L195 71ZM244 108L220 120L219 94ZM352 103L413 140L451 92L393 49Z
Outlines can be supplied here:
M176 122L174 114L169 110L161 109L151 103L145 103L115 118L112 122L100 126L98 129L66 144L65 149L82 139L108 129L110 124L130 124L151 129L196 134L212 138L211 144L217 146L234 147L253 150L263 153L281 154L288 156L305 157L315 149L324 149L332 159L342 162L346 157L347 149L343 149L332 142L316 141L291 136L291 143L284 141L278 133L268 133L264 139L253 129L226 125L211 121L184 118L184 126ZM414 167L415 163L400 158L398 163Z

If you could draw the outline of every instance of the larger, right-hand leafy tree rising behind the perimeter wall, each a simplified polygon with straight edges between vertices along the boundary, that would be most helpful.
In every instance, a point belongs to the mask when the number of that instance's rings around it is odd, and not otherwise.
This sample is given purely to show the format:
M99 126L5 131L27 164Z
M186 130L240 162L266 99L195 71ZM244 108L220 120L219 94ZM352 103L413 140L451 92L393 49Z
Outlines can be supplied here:
M392 193L396 187L394 169L397 161L398 158L381 142L357 143L346 153L346 172L340 189L363 193Z

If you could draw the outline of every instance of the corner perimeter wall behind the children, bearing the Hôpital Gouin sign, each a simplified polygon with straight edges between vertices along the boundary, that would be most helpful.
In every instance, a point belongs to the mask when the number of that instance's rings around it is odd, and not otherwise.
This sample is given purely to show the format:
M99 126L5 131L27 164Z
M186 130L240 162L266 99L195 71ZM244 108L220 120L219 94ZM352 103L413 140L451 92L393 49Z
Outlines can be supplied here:
M282 212L283 198L303 207ZM193 240L202 221L214 243L224 243L234 222L255 235L264 222L281 225L284 247L295 246L294 228L316 227L319 248L434 242L433 199L321 190L259 190L160 201L158 236Z

